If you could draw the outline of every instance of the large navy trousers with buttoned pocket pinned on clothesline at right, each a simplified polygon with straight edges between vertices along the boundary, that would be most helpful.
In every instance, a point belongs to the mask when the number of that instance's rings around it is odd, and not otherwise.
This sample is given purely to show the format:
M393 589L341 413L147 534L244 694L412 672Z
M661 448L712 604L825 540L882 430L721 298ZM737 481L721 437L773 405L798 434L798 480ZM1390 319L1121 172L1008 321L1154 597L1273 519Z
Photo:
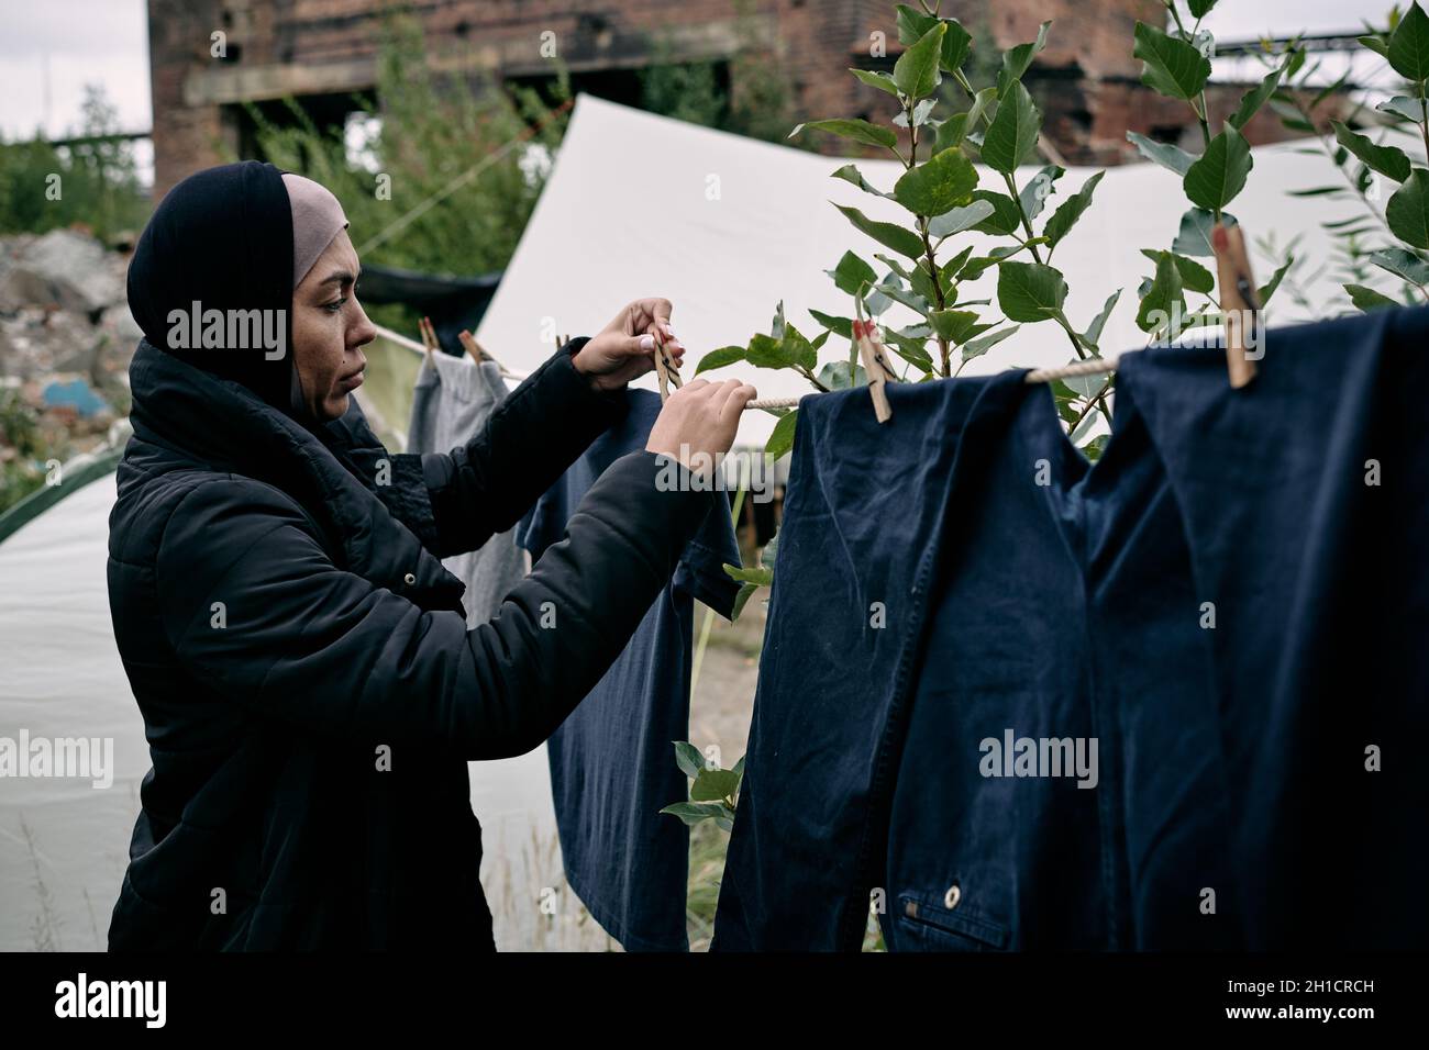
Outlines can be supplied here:
M1426 336L806 399L713 947L1420 944Z

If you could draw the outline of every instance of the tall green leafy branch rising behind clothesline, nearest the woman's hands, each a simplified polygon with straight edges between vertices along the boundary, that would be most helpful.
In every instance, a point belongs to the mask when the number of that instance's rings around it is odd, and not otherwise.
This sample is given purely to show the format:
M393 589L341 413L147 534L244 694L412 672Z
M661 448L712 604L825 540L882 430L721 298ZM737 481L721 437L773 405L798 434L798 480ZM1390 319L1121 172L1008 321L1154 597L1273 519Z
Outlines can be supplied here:
M812 310L825 331L810 340L785 320L780 304L767 336L757 334L747 346L712 351L700 360L696 374L746 361L755 367L796 371L816 390L862 384L866 377L859 366L853 320L882 317L895 303L917 316L912 326L882 326L883 343L903 360L903 379L909 381L956 376L1022 324L1039 321L1056 323L1077 359L1099 356L1096 343L1116 297L1107 300L1106 310L1086 330L1079 331L1065 313L1067 284L1063 274L1052 267L1052 257L1092 206L1102 176L1093 176L1055 214L1046 217L1040 233L1036 223L1043 217L1046 200L1056 191L1056 181L1065 170L1047 166L1026 187L1017 184L1017 169L1032 157L1042 133L1042 113L1022 79L1046 47L1050 23L1042 26L1035 41L1005 51L996 83L979 90L965 71L973 53L972 34L956 19L939 17L936 4L925 0L920 7L896 6L903 53L892 71L850 70L863 84L897 99L899 113L890 126L862 119L833 119L809 121L790 133L816 130L836 134L887 150L903 166L890 190L873 186L857 164L845 164L833 173L835 179L870 196L892 200L909 213L907 221L890 223L872 219L859 207L835 206L855 229L887 249L887 253L873 254L873 260L882 264L882 276L873 263L846 251L826 273L840 291L853 299L852 317ZM967 109L946 119L935 113L943 101L939 86L945 77L967 96ZM899 129L907 131L906 153L899 149ZM925 147L926 156L920 157ZM1002 190L979 186L973 159L980 159L997 174ZM969 231L1009 243L986 256L975 257L972 246L955 253L950 243ZM1027 259L1019 259L1023 253ZM992 306L992 300L960 294L963 284L993 267L999 271L996 301L1000 317L979 310ZM819 350L832 336L847 340L847 357L820 363ZM1087 403L1096 403L1110 419L1103 399L1093 397ZM766 451L780 456L792 446L796 413L770 411L782 419Z

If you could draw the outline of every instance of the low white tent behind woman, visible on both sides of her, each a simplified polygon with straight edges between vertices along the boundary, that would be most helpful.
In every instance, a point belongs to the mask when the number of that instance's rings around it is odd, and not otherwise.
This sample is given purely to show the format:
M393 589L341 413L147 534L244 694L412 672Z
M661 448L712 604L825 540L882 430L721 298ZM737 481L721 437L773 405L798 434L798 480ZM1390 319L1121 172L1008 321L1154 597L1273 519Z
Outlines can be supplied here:
M0 777L0 951L103 951L149 746L114 646L109 474L0 543L0 737L113 741L113 781ZM96 754L103 754L103 744ZM544 749L472 763L482 883L502 950L607 950L566 887ZM553 887L556 914L542 909Z

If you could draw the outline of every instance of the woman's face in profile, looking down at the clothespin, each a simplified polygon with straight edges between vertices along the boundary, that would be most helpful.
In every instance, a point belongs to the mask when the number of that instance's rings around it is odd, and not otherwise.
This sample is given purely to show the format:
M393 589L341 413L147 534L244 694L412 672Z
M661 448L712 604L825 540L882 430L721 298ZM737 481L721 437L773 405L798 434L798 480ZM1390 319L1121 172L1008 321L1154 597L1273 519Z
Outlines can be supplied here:
M347 394L362 386L367 367L359 347L377 337L357 303L359 270L357 250L343 230L293 290L293 360L303 400L323 421L347 411Z

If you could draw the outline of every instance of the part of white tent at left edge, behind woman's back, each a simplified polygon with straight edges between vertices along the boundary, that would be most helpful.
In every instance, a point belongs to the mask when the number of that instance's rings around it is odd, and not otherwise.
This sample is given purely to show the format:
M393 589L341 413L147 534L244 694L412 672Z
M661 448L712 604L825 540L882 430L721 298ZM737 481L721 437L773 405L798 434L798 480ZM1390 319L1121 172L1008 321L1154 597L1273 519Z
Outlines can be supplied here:
M106 594L114 493L110 469L0 543L0 736L114 741L109 787L84 777L6 779L3 951L103 951L129 863L149 744Z

